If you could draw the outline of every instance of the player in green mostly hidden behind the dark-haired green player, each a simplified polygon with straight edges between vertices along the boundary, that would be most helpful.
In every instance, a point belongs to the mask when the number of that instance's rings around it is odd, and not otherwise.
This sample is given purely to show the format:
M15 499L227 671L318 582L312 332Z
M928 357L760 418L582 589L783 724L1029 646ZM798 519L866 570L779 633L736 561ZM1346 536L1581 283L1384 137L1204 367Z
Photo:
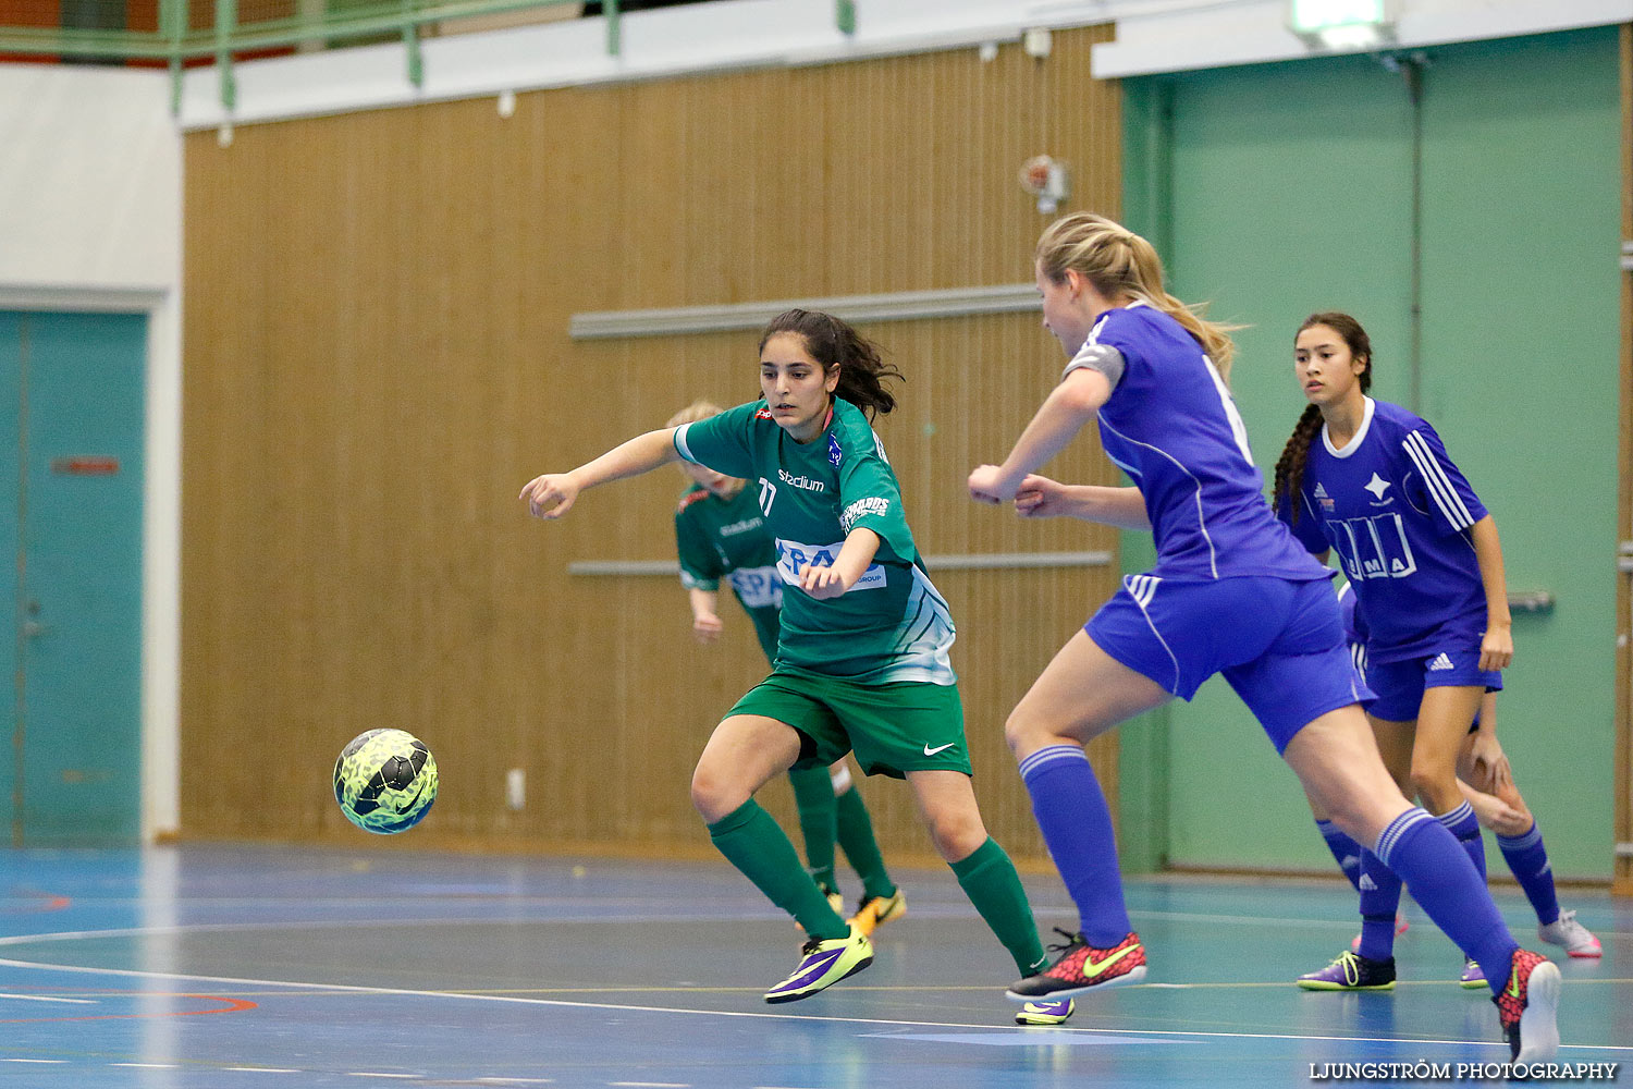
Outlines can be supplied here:
M719 416L723 410L709 402L694 402L674 413L666 428ZM720 637L719 598L722 580L754 624L766 661L777 661L777 630L782 612L782 578L777 575L777 544L766 529L766 519L745 488L741 477L727 477L696 462L681 462L681 472L692 487L674 511L674 544L681 558L681 585L692 606L692 633L702 643ZM851 926L872 934L882 922L906 914L906 896L890 880L885 859L874 839L874 821L867 815L862 792L851 780L851 769L841 758L831 767L792 767L800 836L805 839L805 862L834 911L844 906L834 877L834 841L862 878L862 898L851 916Z

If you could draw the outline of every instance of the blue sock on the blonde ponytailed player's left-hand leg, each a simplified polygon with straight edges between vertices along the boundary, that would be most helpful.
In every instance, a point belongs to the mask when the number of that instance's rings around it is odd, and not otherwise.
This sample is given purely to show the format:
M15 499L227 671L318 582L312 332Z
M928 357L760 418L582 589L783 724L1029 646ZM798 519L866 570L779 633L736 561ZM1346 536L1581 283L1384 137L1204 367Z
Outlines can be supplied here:
M1060 880L1078 905L1089 945L1110 949L1133 926L1122 898L1117 834L1101 780L1078 745L1052 745L1021 761L1021 780Z

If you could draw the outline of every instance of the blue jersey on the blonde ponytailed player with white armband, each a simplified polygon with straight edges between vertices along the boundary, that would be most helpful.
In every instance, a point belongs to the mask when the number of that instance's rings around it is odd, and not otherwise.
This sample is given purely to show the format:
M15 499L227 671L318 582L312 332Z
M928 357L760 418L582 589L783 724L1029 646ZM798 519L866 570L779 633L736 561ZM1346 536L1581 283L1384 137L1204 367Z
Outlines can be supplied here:
M1096 344L1124 358L1122 376L1101 407L1101 446L1145 500L1156 539L1155 575L1331 576L1266 504L1264 477L1253 464L1236 403L1179 322L1135 302L1101 315L1083 348Z

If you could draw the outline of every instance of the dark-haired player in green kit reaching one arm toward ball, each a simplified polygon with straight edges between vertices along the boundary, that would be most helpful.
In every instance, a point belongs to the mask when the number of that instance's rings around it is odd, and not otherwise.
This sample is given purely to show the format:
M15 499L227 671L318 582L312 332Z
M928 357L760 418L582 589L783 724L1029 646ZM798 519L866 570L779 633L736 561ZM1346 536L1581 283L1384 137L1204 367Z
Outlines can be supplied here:
M648 431L521 491L534 516L554 519L585 488L676 459L753 488L777 542L777 661L715 727L692 774L692 805L720 854L810 936L768 1002L808 998L874 960L867 936L839 918L754 802L772 776L795 764L825 767L846 753L869 776L908 780L936 851L1014 963L1024 973L1047 963L1014 864L975 805L949 660L952 617L924 573L895 472L869 424L869 413L895 408L887 377L900 372L849 325L789 310L759 341L763 400ZM1035 1024L1070 1012L1066 999L1042 1002ZM1017 1019L1029 1016L1022 1009Z

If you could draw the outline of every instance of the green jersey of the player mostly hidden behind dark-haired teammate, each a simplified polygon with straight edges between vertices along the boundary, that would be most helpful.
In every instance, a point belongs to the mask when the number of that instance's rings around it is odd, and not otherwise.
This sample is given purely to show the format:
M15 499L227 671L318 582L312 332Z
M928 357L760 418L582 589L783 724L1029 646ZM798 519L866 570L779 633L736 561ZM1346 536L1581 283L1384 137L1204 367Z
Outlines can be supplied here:
M766 658L776 663L782 580L777 545L753 488L745 487L730 500L699 485L687 488L674 508L674 547L681 557L681 586L719 591L723 578L754 622Z

